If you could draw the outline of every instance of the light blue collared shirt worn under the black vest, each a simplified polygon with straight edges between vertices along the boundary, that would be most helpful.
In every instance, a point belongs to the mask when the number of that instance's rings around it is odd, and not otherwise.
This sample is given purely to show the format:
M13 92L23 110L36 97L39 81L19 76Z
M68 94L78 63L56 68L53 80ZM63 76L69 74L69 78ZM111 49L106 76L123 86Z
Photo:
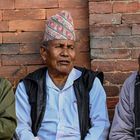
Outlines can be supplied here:
M46 72L47 104L45 115L38 131L40 140L80 140L77 100L73 82L81 72L72 69L68 79L60 90ZM95 78L90 95L90 118L92 127L85 140L106 140L109 128L105 91L98 78ZM31 131L31 107L24 84L19 83L16 90L16 114L18 126L16 132L20 140L33 140Z

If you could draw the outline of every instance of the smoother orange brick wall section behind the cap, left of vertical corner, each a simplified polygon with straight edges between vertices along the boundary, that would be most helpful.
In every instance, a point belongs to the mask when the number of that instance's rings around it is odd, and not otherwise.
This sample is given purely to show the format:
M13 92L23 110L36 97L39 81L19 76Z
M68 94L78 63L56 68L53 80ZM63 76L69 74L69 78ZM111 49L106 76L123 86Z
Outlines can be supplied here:
M39 48L45 20L63 9L74 18L75 63L90 67L88 0L0 0L0 76L15 86L20 78L43 66Z

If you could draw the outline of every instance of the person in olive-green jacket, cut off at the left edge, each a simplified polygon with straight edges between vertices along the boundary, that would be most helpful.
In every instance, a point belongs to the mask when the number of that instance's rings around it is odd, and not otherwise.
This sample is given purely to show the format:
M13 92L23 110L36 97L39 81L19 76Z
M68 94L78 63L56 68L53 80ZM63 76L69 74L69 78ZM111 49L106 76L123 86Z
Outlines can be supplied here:
M15 98L12 86L0 78L0 139L11 140L16 129Z

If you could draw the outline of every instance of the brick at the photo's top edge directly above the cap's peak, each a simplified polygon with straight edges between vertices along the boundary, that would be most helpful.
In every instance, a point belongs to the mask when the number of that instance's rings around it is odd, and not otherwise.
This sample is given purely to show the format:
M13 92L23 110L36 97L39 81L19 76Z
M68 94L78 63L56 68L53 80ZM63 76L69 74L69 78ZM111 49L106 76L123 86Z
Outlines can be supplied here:
M87 7L88 2L83 0L59 0L59 7L60 8L81 8L81 7Z

